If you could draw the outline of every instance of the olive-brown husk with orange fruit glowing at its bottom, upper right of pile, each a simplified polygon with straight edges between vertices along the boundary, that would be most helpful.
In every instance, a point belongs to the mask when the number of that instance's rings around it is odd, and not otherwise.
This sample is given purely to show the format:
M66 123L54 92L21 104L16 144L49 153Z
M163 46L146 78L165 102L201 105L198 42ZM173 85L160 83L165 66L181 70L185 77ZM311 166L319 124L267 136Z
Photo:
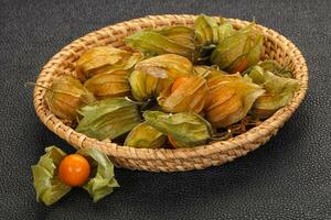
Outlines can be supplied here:
M211 55L211 62L229 74L242 73L258 63L263 43L263 33L252 23L220 42Z

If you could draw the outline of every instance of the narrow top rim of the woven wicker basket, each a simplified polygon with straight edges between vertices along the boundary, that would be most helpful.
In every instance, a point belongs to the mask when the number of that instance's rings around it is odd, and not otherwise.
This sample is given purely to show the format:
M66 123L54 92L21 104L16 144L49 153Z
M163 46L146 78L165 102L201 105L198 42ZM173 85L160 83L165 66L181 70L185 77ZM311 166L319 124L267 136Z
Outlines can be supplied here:
M77 45L86 42L94 44L96 46L98 44L98 36L108 33L109 37L114 36L115 33L121 32L127 34L127 30L134 26L139 26L139 29L143 29L145 24L149 24L151 21L166 20L170 18L169 25L173 25L171 20L179 20L183 25L186 25L188 21L194 20L196 15L192 14L163 14L163 15L149 15L145 18L134 19L130 21L120 22L114 25L109 25L103 28L98 31L94 31L78 40L75 40L64 48L62 48L57 54L55 54L49 63L43 67L41 74L39 75L36 84L47 86L49 81L52 78L53 74L57 74L57 67L63 63L67 62L67 57L77 58L76 54ZM228 19L234 25L246 25L247 21L242 21L238 19ZM164 23L163 23L164 24ZM232 151L237 146L245 144L254 143L257 139L264 135L268 135L269 133L277 132L277 130L287 121L292 112L298 108L300 102L306 96L307 87L308 87L308 68L306 61L301 54L301 52L285 36L280 35L274 30L265 28L263 25L257 25L259 29L264 31L264 34L267 37L271 37L275 42L277 42L277 46L281 47L281 50L287 52L289 61L296 61L296 67L301 72L301 77L298 78L300 81L300 90L296 92L295 98L291 102L279 109L273 117L265 120L260 125L255 127L247 132L237 135L233 139L226 141L220 141L202 146L195 146L192 148L135 148L129 146L117 145L116 143L103 142L95 139L90 139L85 134L75 132L72 128L65 125L57 117L55 117L44 105L44 92L45 89L41 87L35 87L34 90L34 106L39 118L42 122L47 125L50 130L60 135L62 139L66 140L74 147L96 147L107 153L110 157L120 157L127 160L147 160L147 161L158 161L158 160L185 160L188 157L206 157L207 155ZM116 36L115 36L116 37ZM93 41L90 41L93 38ZM84 43L85 44L85 43ZM86 46L85 45L85 46ZM71 64L68 64L71 65ZM73 65L73 64L72 64ZM298 70L298 72L299 72Z

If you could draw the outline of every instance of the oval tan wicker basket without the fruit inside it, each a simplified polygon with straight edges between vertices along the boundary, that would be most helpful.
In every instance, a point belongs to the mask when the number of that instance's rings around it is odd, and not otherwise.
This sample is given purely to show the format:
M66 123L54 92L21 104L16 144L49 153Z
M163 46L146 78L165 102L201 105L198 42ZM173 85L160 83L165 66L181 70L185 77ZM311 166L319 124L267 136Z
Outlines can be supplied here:
M56 75L73 74L75 62L88 48L100 45L113 45L125 48L122 38L147 28L162 28L169 25L192 26L195 15L152 15L118 23L89 33L70 45L51 58L43 67L36 84L49 87ZM248 22L231 19L235 28L247 25ZM305 98L308 86L308 69L300 51L286 37L267 28L258 25L265 36L265 57L274 58L280 64L290 64L295 77L300 81L300 90L292 101L278 110L271 118L244 134L227 141L210 145L180 150L148 150L120 146L111 142L100 142L82 133L75 132L50 112L44 101L45 89L36 87L34 90L34 106L42 122L54 133L66 140L76 148L94 147L105 152L110 160L120 167L143 169L150 172L184 172L217 166L236 157L243 156L267 142L290 118Z

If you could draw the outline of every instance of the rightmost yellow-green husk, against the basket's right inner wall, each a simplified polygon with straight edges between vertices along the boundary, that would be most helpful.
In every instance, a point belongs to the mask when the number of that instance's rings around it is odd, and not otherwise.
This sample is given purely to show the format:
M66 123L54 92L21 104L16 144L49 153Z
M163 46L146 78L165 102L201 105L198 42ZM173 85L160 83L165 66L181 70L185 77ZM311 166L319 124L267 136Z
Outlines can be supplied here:
M300 88L298 80L279 77L260 66L254 66L245 77L266 90L265 95L256 99L252 109L252 113L260 119L268 118L287 106Z

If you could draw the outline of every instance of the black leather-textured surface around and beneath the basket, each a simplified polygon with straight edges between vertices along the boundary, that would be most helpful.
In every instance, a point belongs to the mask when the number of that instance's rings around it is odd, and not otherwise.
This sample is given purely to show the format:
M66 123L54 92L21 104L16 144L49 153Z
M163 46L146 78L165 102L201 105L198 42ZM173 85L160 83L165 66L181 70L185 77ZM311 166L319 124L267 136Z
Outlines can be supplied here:
M0 0L0 219L331 219L330 2ZM147 14L201 12L255 16L302 51L309 94L278 135L205 170L116 169L122 187L98 204L82 189L49 208L38 204L30 166L51 144L73 150L38 120L23 82L90 31Z

